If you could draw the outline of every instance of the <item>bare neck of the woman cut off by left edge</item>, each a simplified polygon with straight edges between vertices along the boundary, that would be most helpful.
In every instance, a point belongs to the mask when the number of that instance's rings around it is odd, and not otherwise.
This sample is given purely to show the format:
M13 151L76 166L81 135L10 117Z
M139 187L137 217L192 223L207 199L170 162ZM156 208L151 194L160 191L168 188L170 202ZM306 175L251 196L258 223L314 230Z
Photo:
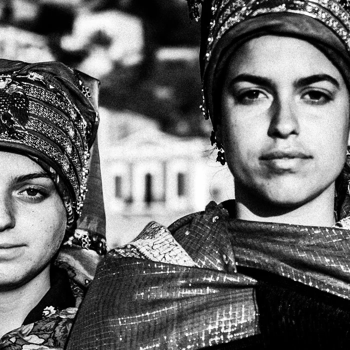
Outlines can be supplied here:
M29 312L50 289L50 265L24 285L8 289L0 286L0 338L21 327Z

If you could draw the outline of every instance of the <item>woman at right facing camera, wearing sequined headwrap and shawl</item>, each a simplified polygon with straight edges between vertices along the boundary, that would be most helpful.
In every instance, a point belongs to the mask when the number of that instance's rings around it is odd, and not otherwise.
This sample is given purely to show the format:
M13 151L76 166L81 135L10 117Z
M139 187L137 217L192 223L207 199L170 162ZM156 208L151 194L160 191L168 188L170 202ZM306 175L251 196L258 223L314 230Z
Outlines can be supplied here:
M236 200L107 254L70 349L349 346L347 9L202 1L202 109Z

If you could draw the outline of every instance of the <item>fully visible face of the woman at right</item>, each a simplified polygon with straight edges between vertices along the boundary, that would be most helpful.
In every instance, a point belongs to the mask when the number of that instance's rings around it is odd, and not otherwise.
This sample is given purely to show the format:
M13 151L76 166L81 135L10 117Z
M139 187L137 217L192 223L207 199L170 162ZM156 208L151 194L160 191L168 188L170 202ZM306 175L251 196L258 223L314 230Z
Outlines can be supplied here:
M262 36L232 57L218 127L235 184L294 207L329 188L349 139L349 93L337 68L306 41Z

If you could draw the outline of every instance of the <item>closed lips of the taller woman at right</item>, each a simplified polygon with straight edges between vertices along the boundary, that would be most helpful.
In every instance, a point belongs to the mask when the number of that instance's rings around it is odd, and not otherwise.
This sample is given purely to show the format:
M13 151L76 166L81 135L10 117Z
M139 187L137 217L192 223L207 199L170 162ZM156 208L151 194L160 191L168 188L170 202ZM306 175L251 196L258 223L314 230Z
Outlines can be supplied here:
M263 162L270 170L282 174L293 172L304 166L313 157L298 149L272 150L263 153L259 160Z

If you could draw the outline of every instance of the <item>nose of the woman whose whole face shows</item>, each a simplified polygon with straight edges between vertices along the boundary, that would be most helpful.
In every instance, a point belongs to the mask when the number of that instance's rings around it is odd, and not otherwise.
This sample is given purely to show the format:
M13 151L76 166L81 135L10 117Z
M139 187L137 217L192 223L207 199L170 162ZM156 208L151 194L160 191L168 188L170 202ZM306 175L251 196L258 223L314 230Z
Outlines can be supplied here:
M269 137L286 139L290 135L299 134L299 123L296 106L288 98L275 99L270 107Z

